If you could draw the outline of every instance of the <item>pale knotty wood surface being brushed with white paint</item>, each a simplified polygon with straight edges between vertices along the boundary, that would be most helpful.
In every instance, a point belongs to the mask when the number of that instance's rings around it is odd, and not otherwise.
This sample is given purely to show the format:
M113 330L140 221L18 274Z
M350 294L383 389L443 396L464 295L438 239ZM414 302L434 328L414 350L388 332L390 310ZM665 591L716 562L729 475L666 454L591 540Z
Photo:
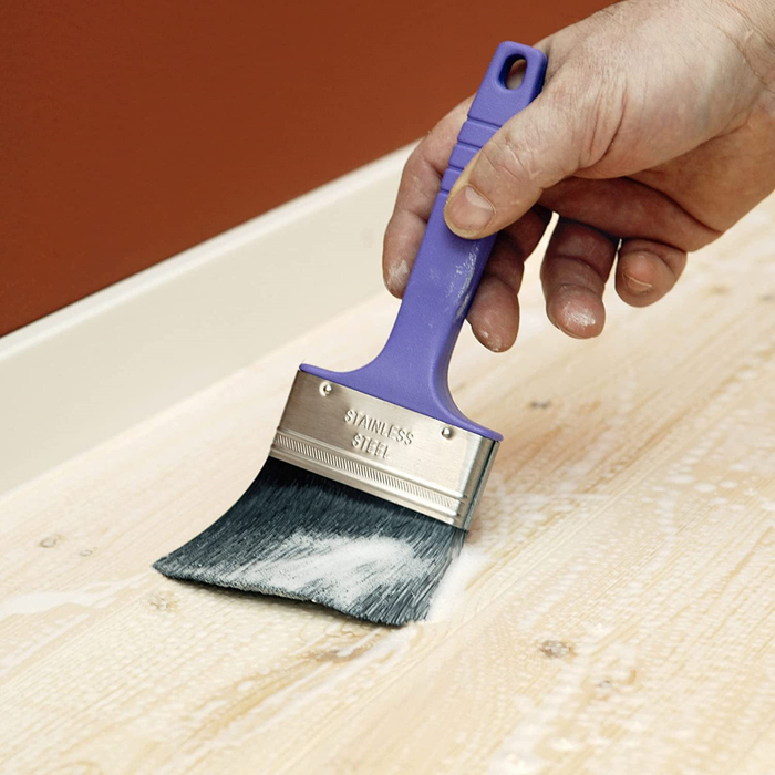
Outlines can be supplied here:
M775 199L597 341L530 264L517 347L456 355L506 442L430 622L149 569L247 486L301 360L374 353L385 296L0 502L0 772L775 772Z

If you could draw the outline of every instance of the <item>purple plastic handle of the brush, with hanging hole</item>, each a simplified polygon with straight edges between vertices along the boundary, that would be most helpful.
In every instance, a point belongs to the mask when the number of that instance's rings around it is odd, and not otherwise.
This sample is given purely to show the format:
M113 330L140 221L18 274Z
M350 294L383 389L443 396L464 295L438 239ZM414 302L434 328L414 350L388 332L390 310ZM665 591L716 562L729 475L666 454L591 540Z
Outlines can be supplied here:
M520 59L526 62L523 83L518 89L508 89L506 78ZM529 45L508 41L498 45L457 136L401 309L382 352L355 371L335 372L308 364L301 365L302 371L480 436L503 438L457 409L447 382L450 359L495 235L484 239L457 237L444 223L444 204L476 152L538 95L546 63L546 56Z

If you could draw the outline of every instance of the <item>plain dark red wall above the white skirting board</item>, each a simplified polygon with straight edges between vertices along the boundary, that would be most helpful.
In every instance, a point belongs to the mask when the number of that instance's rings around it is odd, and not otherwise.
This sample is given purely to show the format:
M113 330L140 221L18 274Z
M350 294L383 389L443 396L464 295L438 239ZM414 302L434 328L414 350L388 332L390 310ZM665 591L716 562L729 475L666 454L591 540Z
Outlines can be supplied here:
M0 334L421 136L603 0L0 6Z

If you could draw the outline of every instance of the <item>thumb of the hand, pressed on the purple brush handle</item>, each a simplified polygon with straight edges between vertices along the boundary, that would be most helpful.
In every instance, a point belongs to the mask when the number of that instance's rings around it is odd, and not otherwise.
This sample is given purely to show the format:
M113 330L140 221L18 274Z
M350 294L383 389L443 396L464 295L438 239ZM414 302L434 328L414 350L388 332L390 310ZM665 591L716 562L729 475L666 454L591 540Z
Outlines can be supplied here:
M556 84L552 80L551 86ZM444 217L456 235L486 237L514 223L545 188L587 162L583 148L595 122L572 103L567 90L548 87L474 156L446 200Z

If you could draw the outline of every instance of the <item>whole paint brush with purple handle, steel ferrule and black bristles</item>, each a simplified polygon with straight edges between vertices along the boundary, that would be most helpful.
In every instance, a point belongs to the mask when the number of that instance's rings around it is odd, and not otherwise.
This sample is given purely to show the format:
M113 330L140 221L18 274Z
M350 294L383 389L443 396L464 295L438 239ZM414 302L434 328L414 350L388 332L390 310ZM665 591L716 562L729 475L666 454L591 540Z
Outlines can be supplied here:
M509 89L519 60L523 82ZM157 560L157 570L311 600L379 623L425 618L502 441L457 409L447 384L495 236L457 237L444 223L444 204L476 152L537 96L545 71L536 49L497 48L386 344L355 371L302 364L256 479L213 526Z

